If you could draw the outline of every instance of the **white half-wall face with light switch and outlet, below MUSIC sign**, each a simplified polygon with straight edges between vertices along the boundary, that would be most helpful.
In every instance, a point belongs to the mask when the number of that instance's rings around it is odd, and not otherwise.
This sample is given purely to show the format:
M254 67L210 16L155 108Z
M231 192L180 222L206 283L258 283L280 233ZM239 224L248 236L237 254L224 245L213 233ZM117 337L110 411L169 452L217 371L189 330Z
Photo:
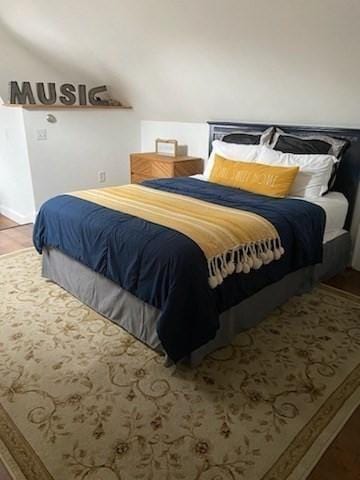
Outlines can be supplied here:
M139 150L140 122L127 110L24 111L36 209L65 192L128 183L129 154ZM38 140L46 129L47 140ZM98 172L106 172L100 184Z

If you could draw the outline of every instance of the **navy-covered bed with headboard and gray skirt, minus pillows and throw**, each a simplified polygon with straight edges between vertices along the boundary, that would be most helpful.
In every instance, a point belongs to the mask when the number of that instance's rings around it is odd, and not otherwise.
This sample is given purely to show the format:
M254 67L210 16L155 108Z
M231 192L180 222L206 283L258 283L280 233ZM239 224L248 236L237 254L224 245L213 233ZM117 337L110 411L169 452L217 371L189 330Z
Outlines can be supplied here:
M210 123L210 149L214 139L226 137L234 130L263 132L267 127L269 126L262 124ZM316 282L343 271L349 262L349 230L359 184L360 130L293 126L281 128L289 133L326 133L350 142L340 163L332 191L316 202L285 199L281 202L283 207L279 209L280 203L275 204L266 199L261 199L259 203L256 195L246 195L241 199L241 205L245 204L249 211L266 215L276 224L284 237L286 250L291 251L291 255L284 255L281 261L252 272L247 276L246 282L241 280L244 277L242 274L236 276L237 280L234 279L235 275L230 275L224 284L210 291L208 286L203 285L202 267L194 267L201 264L199 252L184 236L180 234L175 237L169 229L164 231L164 227L161 227L159 230L149 222L135 224L131 219L132 223L128 224L127 231L131 225L131 229L138 235L130 236L126 240L126 248L118 252L119 255L113 251L113 255L109 256L109 250L115 250L115 247L109 246L108 239L108 243L104 242L102 252L106 251L108 260L105 273L102 267L106 260L104 255L100 258L91 253L91 241L95 242L100 238L99 232L102 229L94 215L106 214L106 225L112 225L112 222L116 225L120 217L113 218L109 211L101 210L99 213L86 203L81 204L80 208L79 202L82 202L82 199L69 205L69 199L62 196L40 210L35 226L34 243L43 254L43 276L126 329L152 349L164 354L168 364L178 361L198 364L208 353L231 342L240 331L255 326L291 296L309 291ZM235 208L239 201L234 192L229 192L226 187L215 188L201 176L156 180L145 183L145 186L161 192L185 193L192 198ZM78 206L79 211L75 212ZM299 215L304 215L304 219L306 216L314 219L311 235L302 231L301 216L297 222L293 221L293 209L298 211ZM72 212L71 218L68 218L69 211ZM84 232L80 234L77 231L77 222L85 217L91 218L91 222L88 222L86 235L83 235ZM122 220L125 222L129 218L123 216ZM60 235L59 229L61 230L60 226L66 222L70 222L68 226L70 225L73 238L65 241L64 233ZM123 231L119 235L118 243L125 238ZM149 252L149 245L158 237L163 239L164 252L159 253L161 248L155 243L156 248ZM72 251L67 248L67 242L70 241L77 245L76 254L74 247ZM133 244L137 244L137 247ZM153 277L149 277L149 272L143 274L144 264L140 275L137 273L134 278L131 273L135 268L134 263L139 261L139 255L134 255L132 249L145 251L145 247L148 255L152 255L157 261L151 268ZM186 262L177 265L177 270L168 268L169 263L172 266L174 259L166 252L176 250L177 247L193 256L192 266L189 262L191 268L186 266ZM130 257L136 260L131 265L128 260ZM122 276L116 276L117 274L111 271L113 263L119 263L118 270L122 271ZM161 268L158 264L161 264ZM169 301L168 288L172 283L172 276L175 275L172 272L177 275L179 269L181 282L178 282L177 288L171 290L175 293L171 293L172 299ZM125 276L128 283L124 280ZM166 308L163 308L165 302Z

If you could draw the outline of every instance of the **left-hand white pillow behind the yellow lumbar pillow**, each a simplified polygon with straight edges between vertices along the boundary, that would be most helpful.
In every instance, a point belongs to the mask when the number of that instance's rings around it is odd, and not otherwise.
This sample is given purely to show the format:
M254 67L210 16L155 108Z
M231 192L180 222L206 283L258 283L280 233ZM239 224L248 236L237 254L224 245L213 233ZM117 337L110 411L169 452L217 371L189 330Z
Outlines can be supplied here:
M204 177L209 180L211 171L214 167L215 155L227 158L228 160L238 160L245 162L254 162L261 150L261 145L243 145L238 143L227 143L221 140L214 140L212 151L206 164Z

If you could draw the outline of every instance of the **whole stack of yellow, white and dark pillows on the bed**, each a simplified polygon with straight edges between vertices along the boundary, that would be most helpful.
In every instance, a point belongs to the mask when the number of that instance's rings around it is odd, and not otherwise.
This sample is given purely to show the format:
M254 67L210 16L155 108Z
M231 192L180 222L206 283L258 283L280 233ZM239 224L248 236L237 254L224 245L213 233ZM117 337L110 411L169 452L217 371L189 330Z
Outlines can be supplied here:
M226 141L213 142L204 177L274 197L324 195L335 181L336 168L348 145L341 139L323 135L300 137L279 128L267 129L262 134L231 132L223 140ZM241 141L245 144L238 143ZM277 170L271 171L269 166Z

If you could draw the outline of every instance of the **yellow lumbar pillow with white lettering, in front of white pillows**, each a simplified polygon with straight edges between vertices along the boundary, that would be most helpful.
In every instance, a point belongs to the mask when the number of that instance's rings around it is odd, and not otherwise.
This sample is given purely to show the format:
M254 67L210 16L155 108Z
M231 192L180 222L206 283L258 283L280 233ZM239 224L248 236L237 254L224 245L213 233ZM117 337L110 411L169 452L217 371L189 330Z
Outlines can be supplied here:
M210 181L269 197L286 197L299 167L278 167L264 163L228 160L215 155Z

